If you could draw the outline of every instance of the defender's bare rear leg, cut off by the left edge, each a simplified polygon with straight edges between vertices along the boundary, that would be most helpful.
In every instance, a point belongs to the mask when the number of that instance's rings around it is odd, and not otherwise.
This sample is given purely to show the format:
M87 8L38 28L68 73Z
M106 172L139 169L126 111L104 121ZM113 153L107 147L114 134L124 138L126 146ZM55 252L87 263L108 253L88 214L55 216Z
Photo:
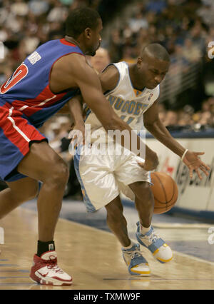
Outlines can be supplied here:
M7 183L9 188L0 192L0 219L26 201L35 198L39 191L38 181L21 178Z

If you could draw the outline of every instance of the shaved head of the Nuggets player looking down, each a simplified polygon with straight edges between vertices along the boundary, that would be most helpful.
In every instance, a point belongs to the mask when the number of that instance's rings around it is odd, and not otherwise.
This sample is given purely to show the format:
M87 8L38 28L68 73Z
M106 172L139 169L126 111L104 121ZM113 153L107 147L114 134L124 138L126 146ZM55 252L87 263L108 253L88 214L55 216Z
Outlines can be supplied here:
M142 80L142 87L153 89L163 81L168 72L170 56L161 44L148 44L142 49L136 66L138 78Z

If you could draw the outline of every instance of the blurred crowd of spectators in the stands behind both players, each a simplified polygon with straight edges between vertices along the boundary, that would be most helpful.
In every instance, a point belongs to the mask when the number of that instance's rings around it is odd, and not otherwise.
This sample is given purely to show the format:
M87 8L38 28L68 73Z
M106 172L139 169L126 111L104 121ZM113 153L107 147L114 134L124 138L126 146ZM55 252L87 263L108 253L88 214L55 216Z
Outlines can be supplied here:
M61 39L69 11L81 6L97 9L103 19L102 48L88 58L97 71L111 62L135 62L143 46L160 43L171 59L161 84L161 120L169 128L214 128L214 59L208 56L214 41L213 0L0 0L0 85L36 47ZM66 195L80 193L68 153L70 127L69 116L57 115L41 130L70 164Z

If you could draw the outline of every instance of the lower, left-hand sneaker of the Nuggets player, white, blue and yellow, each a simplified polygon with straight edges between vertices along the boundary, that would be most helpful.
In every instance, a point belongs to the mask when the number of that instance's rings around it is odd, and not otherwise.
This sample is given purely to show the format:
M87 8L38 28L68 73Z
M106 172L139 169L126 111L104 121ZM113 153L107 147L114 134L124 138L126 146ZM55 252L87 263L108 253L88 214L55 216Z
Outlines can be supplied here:
M150 275L150 269L146 258L140 251L140 245L134 244L130 249L123 249L123 259L128 266L128 272L131 275L148 276Z

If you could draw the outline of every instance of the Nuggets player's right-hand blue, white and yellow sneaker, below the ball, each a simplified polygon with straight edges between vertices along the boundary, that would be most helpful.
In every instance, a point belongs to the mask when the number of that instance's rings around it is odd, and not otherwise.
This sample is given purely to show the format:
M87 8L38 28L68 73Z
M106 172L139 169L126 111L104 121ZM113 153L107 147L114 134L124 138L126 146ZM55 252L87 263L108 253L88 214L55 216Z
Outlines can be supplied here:
M169 262L173 258L171 248L154 231L153 227L146 234L141 234L141 224L137 223L136 238L138 242L151 251L154 258L161 263Z

